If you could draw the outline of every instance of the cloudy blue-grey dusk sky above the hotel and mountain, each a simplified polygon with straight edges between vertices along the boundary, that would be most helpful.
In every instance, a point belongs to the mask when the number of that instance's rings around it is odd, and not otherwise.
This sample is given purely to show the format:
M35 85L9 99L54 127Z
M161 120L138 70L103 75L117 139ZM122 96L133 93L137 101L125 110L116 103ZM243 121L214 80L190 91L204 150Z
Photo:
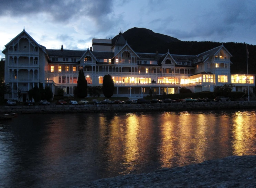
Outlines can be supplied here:
M256 45L255 7L256 0L2 0L0 50L23 26L47 49L84 50L92 38L133 27L182 41Z

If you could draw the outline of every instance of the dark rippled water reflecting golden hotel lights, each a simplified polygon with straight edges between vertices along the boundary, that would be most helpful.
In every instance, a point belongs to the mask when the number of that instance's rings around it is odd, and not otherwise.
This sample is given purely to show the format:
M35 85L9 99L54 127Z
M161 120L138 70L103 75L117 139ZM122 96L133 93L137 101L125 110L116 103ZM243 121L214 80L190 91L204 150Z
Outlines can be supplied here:
M0 187L73 187L256 154L256 111L19 115L0 122Z

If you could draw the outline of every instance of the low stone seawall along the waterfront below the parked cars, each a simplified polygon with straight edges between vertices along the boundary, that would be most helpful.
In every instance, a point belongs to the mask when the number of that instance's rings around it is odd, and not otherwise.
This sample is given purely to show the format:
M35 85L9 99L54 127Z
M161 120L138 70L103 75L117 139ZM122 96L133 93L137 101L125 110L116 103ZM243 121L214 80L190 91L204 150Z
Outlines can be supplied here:
M51 106L0 106L0 113L76 113L76 112L135 112L135 111L187 111L214 109L256 108L256 101L187 102L159 104L85 104Z

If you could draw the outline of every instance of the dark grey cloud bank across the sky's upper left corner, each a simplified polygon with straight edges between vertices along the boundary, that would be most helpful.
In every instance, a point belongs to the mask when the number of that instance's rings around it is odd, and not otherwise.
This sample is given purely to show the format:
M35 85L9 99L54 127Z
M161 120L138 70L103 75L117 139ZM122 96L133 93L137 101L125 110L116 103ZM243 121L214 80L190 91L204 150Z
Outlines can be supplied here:
M31 16L45 13L52 21L66 22L80 16L98 20L111 12L112 0L4 0L1 2L0 16Z

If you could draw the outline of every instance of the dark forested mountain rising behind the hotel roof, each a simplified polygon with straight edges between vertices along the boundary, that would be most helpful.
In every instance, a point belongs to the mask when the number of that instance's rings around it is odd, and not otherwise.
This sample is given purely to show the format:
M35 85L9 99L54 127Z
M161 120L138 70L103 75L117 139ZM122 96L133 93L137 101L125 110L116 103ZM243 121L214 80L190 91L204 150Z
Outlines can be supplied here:
M211 41L181 41L167 35L154 33L145 28L131 28L122 34L135 52L167 53L181 55L197 55L217 46L220 42ZM117 36L112 39L115 43ZM224 47L233 55L231 58L231 73L247 74L246 43L226 42ZM256 74L256 46L247 45L249 51L248 71Z

